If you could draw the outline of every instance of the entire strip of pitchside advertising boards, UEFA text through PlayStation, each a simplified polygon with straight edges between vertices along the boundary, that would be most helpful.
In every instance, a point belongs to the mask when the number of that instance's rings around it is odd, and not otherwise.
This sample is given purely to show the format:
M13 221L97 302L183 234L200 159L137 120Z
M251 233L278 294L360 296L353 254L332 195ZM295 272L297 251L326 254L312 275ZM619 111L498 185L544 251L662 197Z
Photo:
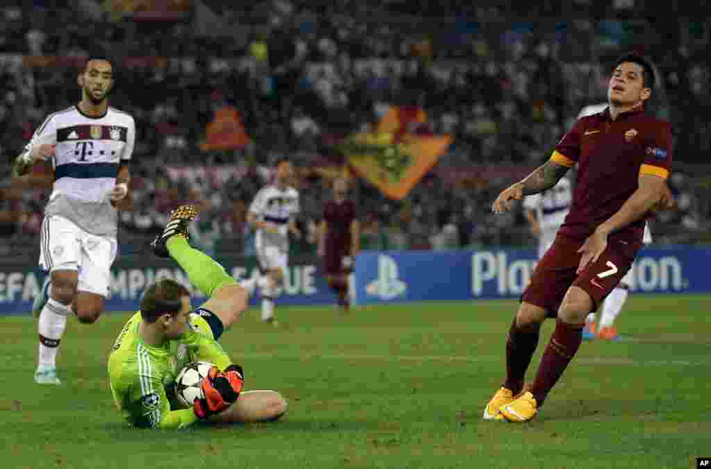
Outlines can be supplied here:
M711 293L711 249L672 246L643 248L633 266L631 290L639 293ZM255 259L218 261L237 280L259 275ZM361 252L355 260L355 303L519 298L535 267L533 249L473 251ZM326 285L319 259L293 259L279 304L330 305L336 297ZM189 287L173 262L129 262L112 268L107 311L135 311L141 292L154 281L171 278ZM44 274L35 266L0 266L0 314L29 314ZM189 287L191 288L191 287ZM194 293L193 304L204 297ZM260 296L250 299L254 306Z

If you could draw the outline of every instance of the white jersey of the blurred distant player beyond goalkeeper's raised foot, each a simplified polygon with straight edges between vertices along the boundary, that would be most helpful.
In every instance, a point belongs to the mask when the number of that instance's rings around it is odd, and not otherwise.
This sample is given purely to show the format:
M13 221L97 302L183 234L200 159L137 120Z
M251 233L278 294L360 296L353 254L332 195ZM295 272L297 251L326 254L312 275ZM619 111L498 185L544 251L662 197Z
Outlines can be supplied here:
M276 246L287 251L289 249L287 225L289 220L299 213L299 193L296 189L287 187L279 190L276 185L264 186L255 195L255 200L252 200L250 212L257 216L258 221L274 223L280 227L278 234L257 230L255 238L257 249Z

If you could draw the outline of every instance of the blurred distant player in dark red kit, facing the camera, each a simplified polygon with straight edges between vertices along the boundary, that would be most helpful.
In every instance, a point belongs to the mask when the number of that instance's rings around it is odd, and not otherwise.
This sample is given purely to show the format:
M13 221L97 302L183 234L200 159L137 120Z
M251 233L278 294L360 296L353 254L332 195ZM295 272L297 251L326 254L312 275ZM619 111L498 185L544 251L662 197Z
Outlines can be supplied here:
M338 306L348 309L348 275L360 248L360 224L355 219L355 204L346 200L348 183L333 182L333 200L324 204L324 219L319 227L319 255L324 259L328 286L338 295Z

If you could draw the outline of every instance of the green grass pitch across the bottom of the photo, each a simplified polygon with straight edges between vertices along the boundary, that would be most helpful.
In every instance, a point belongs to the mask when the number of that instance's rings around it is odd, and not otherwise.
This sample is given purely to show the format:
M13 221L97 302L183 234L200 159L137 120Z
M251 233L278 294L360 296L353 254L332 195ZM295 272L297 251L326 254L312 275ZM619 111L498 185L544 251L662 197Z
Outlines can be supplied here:
M5 468L692 468L711 455L709 296L632 296L626 340L584 343L529 424L481 421L503 381L513 301L250 311L221 343L275 424L127 428L106 356L128 314L70 320L62 387L33 383L36 323L0 318ZM528 377L552 330L542 331Z

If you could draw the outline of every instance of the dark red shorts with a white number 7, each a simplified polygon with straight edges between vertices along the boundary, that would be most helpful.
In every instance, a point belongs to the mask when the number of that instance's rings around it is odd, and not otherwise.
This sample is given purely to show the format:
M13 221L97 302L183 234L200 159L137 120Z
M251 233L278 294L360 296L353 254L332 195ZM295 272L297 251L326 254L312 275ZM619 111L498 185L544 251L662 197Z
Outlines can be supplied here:
M536 264L521 301L545 308L548 316L555 318L565 293L571 286L577 286L589 294L594 301L593 311L597 310L602 300L629 271L642 243L610 237L607 249L597 261L576 274L582 257L577 250L584 242L584 239L558 234L550 249Z

